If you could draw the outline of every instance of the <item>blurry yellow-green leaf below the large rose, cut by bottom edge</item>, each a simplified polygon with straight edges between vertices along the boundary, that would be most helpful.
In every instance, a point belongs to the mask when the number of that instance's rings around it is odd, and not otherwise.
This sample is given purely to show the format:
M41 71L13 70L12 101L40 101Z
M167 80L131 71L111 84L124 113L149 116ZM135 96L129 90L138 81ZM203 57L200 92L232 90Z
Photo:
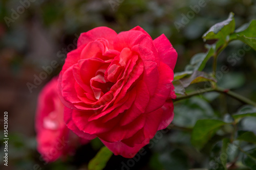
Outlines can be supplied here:
M102 147L97 155L90 160L88 169L89 170L101 170L106 166L106 163L109 161L112 156L112 152L106 148Z

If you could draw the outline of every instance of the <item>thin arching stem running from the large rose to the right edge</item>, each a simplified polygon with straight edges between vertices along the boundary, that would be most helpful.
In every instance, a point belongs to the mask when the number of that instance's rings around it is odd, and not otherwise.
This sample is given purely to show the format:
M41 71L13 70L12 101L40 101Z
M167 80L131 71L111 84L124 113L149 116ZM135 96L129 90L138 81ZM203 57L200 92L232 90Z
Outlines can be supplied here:
M199 94L202 94L202 93L205 93L205 92L210 92L210 91L217 91L217 92L224 93L224 94L229 95L232 98L234 98L234 99L236 99L236 100L238 100L238 101L240 101L240 102L242 102L244 104L248 104L248 105L252 105L252 106L256 107L256 103L255 102L245 98L243 95L240 95L238 93L235 93L233 91L230 91L230 90L227 90L227 89L223 89L223 88L220 88L220 87L199 89L198 91L194 91L194 92L188 93L187 95L177 96L177 98L176 98L176 100L174 100L174 102L177 102L177 101L180 101L180 100L184 100L184 99L188 99L191 96L199 95Z

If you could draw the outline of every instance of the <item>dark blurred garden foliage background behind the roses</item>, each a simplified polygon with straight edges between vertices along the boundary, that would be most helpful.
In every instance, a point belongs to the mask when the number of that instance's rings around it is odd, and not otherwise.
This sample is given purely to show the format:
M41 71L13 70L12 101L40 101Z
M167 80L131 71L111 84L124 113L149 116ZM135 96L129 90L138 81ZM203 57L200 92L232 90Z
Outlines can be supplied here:
M202 1L202 0L201 0ZM0 125L3 132L4 111L8 111L9 163L0 162L0 169L87 169L101 143L95 139L79 148L74 157L66 161L44 163L36 151L34 115L37 96L42 87L58 75L66 54L74 50L77 37L95 27L106 26L117 33L142 27L153 39L165 34L178 52L175 72L183 71L190 58L205 52L202 35L215 23L225 20L229 12L235 14L236 27L256 18L254 0L203 1L205 6L196 9L200 1L194 0L94 0L94 1L14 1L0 2ZM189 12L190 11L190 12ZM192 12L191 12L192 11ZM184 16L187 19L184 19ZM219 85L256 101L256 58L253 50L237 60L227 57L238 53L243 43L234 41L221 54L218 64L226 65L229 72L222 76ZM35 77L43 67L57 61L58 67L45 80L33 88ZM211 60L205 71L211 71ZM223 81L226 80L226 81ZM228 80L228 81L227 81ZM198 85L191 86L196 89ZM123 167L128 159L113 156L105 169L192 169L209 167L210 157L198 152L190 144L191 127L199 118L225 116L234 113L241 103L207 93L203 98L191 98L175 103L176 126L146 146L146 155L132 167ZM220 105L221 104L221 105ZM244 126L256 129L255 119L246 120ZM253 123L254 122L254 123ZM241 125L243 126L243 125ZM2 137L0 139L3 140ZM4 145L1 142L1 157ZM207 151L205 151L207 152ZM2 160L2 159L1 159ZM35 167L39 164L39 167Z

